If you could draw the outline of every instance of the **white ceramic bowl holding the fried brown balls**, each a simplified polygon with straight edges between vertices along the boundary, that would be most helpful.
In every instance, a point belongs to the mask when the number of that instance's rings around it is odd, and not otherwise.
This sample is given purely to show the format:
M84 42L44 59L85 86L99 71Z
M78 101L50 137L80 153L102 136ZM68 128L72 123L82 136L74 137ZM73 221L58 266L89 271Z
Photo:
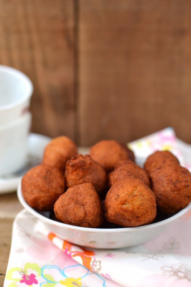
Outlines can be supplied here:
M17 189L17 196L24 208L59 237L76 245L104 249L123 248L146 242L157 236L170 222L182 216L191 207L190 203L187 207L168 219L144 226L128 228L84 228L52 220L49 218L50 212L37 212L34 210L23 198L21 183Z

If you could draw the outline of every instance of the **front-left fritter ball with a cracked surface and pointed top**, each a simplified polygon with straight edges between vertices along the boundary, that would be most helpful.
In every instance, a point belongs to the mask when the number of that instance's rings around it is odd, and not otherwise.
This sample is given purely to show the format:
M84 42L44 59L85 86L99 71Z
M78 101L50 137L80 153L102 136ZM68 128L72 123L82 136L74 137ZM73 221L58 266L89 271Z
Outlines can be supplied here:
M54 213L61 222L96 228L103 222L103 208L91 183L68 188L54 204Z

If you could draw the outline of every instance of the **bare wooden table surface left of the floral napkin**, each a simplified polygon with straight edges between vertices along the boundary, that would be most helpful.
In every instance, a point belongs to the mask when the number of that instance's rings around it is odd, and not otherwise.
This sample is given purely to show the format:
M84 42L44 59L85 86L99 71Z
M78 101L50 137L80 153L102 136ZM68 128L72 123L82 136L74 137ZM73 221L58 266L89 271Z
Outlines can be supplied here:
M0 286L3 286L7 270L13 220L22 209L16 192L0 194Z

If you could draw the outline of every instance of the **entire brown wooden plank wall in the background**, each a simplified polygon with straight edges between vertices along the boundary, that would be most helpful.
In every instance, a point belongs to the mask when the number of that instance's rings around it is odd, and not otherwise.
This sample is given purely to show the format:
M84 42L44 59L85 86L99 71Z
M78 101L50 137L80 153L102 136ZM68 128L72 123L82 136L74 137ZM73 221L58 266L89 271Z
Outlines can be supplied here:
M191 144L190 0L0 0L0 63L34 84L31 130L78 145L167 126Z

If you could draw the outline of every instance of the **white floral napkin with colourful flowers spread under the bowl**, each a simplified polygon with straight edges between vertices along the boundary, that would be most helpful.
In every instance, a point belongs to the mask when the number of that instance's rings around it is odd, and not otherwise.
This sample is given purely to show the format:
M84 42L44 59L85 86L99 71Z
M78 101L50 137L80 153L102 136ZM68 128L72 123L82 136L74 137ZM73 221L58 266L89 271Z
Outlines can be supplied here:
M163 132L167 134L165 143L171 144L170 150L178 152L180 160L173 129L158 132L160 141ZM156 143L157 134L154 137ZM139 148L140 143L145 148L144 139L138 141ZM157 144L150 144L149 137L146 141L149 154L151 146L156 148ZM136 142L130 146L135 151ZM90 249L64 241L22 210L13 223L4 287L191 287L190 226L191 210L143 244L123 249Z

